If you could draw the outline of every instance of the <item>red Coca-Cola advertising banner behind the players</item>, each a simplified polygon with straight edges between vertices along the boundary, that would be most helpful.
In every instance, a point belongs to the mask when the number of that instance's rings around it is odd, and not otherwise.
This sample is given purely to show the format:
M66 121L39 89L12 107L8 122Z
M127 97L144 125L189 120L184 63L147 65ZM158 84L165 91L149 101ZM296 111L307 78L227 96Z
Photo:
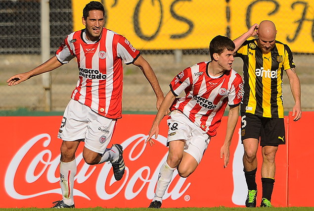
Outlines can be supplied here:
M308 124L304 116L302 117L303 123ZM159 168L166 160L168 153L166 118L160 124L160 134L155 145L150 147L145 144L154 117L154 115L125 114L122 119L118 120L109 147L111 144L119 143L124 148L126 173L120 181L114 179L110 163L86 164L82 157L84 143L80 144L76 154L78 168L74 183L76 208L148 207L154 196ZM61 116L0 117L1 208L47 208L52 206L53 201L62 199L59 186L59 159L62 141L57 139L61 119ZM163 208L244 206L247 187L242 164L244 150L239 135L240 118L230 147L229 164L227 168L224 168L224 161L220 158L220 148L224 143L226 120L227 117L223 117L217 132L218 135L211 139L195 172L187 178L181 178L175 171L173 180L164 196ZM286 117L287 130L288 126L291 127L288 120L289 118ZM292 136L289 132L288 139ZM304 137L299 140L305 141L306 139ZM289 143L288 140L287 142ZM287 146L291 150L292 145L279 146L276 155L275 186L271 200L273 206L276 207L288 205ZM299 148L298 153L301 152L302 147L299 146ZM307 151L312 149L308 147ZM258 161L259 203L262 197L261 149L258 151ZM291 158L289 163L293 164ZM302 168L301 165L298 167ZM292 171L294 170L290 166L289 172ZM300 175L298 176L300 177ZM311 180L309 179L308 182ZM301 183L303 184L303 182ZM295 188L292 186L293 183L289 183L289 188L291 188L289 190ZM291 191L289 191L290 194ZM293 203L291 205L296 206Z

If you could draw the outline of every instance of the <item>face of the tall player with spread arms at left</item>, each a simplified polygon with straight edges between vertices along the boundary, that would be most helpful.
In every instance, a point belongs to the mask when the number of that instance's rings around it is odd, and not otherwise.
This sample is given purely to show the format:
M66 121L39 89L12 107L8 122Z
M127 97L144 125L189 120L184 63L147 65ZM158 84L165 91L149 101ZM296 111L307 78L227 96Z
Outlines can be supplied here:
M102 33L105 25L103 12L100 10L91 10L89 16L85 20L82 18L83 24L86 26L86 37L90 41L97 41Z

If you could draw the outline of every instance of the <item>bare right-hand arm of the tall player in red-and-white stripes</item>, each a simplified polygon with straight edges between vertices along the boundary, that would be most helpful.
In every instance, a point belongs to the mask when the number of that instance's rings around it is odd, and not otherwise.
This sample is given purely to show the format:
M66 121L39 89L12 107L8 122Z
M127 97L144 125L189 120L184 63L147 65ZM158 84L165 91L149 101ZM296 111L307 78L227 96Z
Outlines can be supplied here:
M144 76L146 77L151 87L153 88L156 98L157 98L156 107L158 110L161 105L161 102L164 100L164 93L162 92L159 86L157 77L153 69L151 68L150 64L141 55L135 60L134 64L141 69Z

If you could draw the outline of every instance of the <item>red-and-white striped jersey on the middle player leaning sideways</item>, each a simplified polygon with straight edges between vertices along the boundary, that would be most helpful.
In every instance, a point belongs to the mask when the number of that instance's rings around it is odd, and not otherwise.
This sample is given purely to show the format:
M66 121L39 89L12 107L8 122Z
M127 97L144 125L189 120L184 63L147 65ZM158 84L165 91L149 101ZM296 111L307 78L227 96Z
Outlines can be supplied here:
M208 74L208 64L200 62L180 72L170 83L177 98L170 110L179 110L208 135L215 136L221 123L224 110L241 103L242 78L233 69L220 77Z

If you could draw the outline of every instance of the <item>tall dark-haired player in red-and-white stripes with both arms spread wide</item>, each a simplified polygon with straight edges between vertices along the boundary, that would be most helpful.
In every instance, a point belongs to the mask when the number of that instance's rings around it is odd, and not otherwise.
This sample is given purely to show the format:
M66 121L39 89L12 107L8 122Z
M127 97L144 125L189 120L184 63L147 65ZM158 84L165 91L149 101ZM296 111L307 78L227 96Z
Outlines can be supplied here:
M138 66L157 97L157 109L164 94L149 63L123 36L104 28L105 10L99 1L83 9L85 29L64 40L56 55L35 69L12 76L9 86L49 72L77 58L79 80L65 109L58 138L62 139L60 186L62 200L53 208L74 208L73 184L77 170L75 152L85 142L83 158L88 164L112 163L116 180L125 171L123 148L114 144L107 149L118 118L122 117L123 63Z

